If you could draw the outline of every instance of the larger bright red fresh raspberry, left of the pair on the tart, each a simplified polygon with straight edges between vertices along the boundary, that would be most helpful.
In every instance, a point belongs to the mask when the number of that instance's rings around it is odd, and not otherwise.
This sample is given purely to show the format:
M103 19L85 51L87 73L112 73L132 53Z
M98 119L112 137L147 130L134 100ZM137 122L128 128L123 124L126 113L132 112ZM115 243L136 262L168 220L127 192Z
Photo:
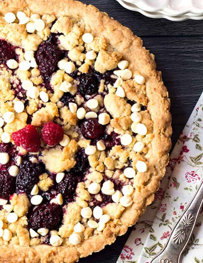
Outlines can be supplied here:
M27 124L25 128L12 133L12 139L17 146L28 152L36 153L40 149L40 136L36 127Z

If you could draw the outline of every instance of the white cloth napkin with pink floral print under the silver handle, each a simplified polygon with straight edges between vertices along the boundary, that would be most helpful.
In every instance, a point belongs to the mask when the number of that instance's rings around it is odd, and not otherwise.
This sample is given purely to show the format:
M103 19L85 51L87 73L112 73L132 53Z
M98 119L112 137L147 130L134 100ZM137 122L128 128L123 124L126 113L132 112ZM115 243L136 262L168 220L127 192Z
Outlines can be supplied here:
M150 263L203 178L203 93L170 156L153 203L134 226L117 263ZM203 262L203 209L182 263Z

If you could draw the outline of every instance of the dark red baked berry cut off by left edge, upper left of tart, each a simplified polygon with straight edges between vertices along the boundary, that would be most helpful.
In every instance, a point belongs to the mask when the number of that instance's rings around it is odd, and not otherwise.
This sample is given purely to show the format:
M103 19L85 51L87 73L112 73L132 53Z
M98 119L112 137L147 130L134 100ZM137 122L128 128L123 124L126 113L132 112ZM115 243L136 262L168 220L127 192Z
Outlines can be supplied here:
M13 45L5 40L0 39L0 64L5 64L8 59L16 59L17 54Z

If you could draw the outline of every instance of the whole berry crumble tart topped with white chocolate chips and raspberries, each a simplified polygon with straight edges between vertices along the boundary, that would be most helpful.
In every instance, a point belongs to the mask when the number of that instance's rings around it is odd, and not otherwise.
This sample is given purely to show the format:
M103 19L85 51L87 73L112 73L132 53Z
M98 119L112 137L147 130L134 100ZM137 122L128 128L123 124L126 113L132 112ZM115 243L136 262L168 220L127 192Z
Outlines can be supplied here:
M141 39L91 5L0 9L0 261L75 262L153 201L168 92Z

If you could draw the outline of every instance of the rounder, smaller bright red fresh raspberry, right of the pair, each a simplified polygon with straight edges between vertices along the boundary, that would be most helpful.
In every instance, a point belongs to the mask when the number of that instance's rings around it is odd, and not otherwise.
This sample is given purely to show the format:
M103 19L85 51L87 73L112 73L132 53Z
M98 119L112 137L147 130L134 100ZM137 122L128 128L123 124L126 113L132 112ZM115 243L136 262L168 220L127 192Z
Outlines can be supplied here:
M42 140L49 146L54 146L63 139L63 129L59 124L49 121L42 128Z

